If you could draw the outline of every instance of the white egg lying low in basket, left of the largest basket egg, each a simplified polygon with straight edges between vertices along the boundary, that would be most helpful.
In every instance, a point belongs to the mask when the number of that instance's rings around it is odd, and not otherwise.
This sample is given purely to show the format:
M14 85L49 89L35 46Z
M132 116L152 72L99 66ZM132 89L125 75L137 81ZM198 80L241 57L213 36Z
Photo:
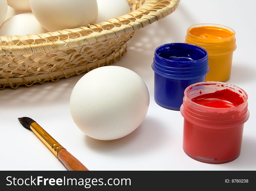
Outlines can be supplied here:
M33 13L22 13L7 19L0 27L0 36L47 33Z

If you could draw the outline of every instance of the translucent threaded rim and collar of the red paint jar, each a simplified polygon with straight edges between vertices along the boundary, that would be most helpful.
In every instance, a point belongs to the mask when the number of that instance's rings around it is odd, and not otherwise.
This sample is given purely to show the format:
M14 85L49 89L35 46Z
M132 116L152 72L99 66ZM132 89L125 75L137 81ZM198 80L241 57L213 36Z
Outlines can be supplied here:
M223 86L221 86L223 85ZM200 90L205 93L212 93L217 90L230 89L243 96L244 102L236 107L230 108L211 108L202 106L191 101L198 96ZM184 91L181 114L183 117L200 126L210 128L228 128L246 122L249 118L247 93L232 84L224 82L199 82L190 85Z

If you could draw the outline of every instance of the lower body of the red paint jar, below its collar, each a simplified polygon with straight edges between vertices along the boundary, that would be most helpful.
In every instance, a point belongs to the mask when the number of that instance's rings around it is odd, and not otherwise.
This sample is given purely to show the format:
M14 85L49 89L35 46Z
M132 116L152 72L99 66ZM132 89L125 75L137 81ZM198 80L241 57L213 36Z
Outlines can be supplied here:
M240 154L243 124L233 128L204 128L184 119L183 127L183 150L195 160L220 164Z

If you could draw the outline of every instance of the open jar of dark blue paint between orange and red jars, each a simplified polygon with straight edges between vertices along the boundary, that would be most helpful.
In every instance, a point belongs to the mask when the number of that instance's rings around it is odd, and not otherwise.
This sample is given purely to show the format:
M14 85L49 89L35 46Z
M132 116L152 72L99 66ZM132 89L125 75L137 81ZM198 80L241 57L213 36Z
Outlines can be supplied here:
M184 90L205 81L209 72L208 53L193 44L164 44L155 50L152 69L155 102L163 108L179 110Z

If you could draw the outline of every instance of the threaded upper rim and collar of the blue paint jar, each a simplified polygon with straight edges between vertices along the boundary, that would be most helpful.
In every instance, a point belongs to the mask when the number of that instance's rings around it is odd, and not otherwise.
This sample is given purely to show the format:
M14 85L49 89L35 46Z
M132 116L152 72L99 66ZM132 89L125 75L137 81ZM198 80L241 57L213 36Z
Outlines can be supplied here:
M181 59L173 60L173 57ZM163 44L155 50L152 69L166 78L198 78L209 72L208 53L202 47L193 44Z

